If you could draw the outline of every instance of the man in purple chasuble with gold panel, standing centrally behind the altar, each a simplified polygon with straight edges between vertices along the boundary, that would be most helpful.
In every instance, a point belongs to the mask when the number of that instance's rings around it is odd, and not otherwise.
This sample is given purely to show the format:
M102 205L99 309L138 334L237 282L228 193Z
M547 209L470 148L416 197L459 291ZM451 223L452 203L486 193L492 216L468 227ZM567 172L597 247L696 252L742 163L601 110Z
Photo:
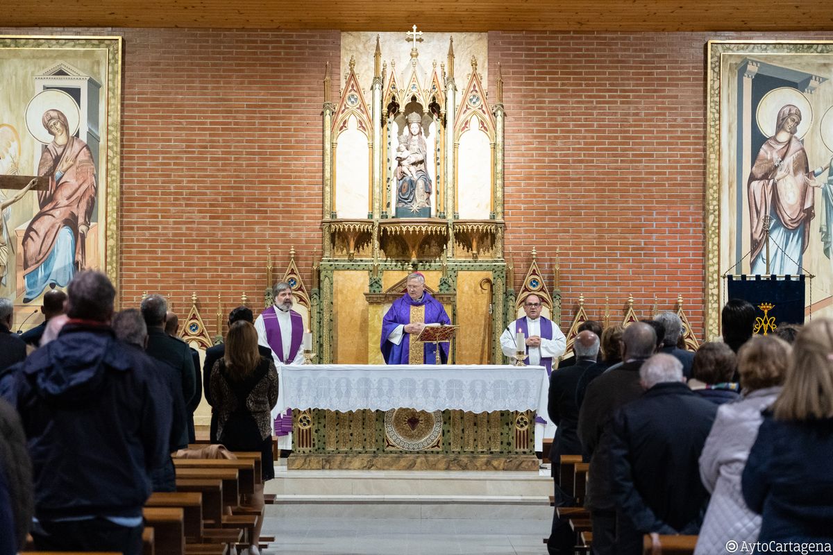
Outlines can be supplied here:
M382 320L382 356L387 364L435 364L436 345L416 341L428 324L450 325L440 301L425 290L425 276L408 275L407 293L393 301ZM440 345L440 361L448 361L448 342Z

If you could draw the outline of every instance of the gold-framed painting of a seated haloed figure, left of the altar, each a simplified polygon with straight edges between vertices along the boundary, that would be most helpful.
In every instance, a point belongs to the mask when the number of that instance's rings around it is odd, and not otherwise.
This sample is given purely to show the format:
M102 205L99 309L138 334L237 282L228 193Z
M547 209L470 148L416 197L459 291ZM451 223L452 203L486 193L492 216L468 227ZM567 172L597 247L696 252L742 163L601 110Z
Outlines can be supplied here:
M0 295L16 325L80 270L117 283L121 48L0 37Z

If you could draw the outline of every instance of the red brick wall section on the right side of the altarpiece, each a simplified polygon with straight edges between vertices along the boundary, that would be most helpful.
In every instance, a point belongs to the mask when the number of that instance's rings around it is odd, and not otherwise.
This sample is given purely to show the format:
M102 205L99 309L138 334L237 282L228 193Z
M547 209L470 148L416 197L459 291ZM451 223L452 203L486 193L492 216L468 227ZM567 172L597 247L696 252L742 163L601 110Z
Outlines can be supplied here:
M831 38L816 33L816 38ZM506 250L521 285L561 250L562 327L583 294L601 319L676 309L698 338L705 280L706 42L714 33L490 32L506 108ZM461 86L458 84L458 86Z

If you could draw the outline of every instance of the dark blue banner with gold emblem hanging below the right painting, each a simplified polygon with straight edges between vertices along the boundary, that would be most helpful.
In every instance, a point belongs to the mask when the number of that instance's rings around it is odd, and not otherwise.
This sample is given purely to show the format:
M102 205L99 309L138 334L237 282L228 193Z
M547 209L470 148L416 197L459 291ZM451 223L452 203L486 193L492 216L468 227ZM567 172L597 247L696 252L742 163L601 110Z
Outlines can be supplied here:
M756 334L773 331L773 325L804 324L803 275L730 275L730 299L751 302L756 310Z

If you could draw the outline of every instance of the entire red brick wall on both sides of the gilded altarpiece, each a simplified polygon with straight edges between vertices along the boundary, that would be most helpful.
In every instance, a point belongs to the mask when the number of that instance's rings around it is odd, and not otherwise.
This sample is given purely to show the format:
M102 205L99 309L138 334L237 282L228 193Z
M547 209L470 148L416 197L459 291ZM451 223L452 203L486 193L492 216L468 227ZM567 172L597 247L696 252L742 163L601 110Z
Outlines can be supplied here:
M266 285L294 245L305 280L321 256L322 68L337 31L2 29L122 34L122 305L159 290L211 322ZM816 38L833 35L817 33ZM536 245L561 250L562 325L579 294L611 319L677 294L702 334L706 33L491 32L506 107L506 245L516 286ZM800 38L772 35L766 38ZM458 77L457 87L465 86ZM233 292L233 293L232 293ZM184 315L184 314L183 314ZM213 325L209 324L213 332Z

